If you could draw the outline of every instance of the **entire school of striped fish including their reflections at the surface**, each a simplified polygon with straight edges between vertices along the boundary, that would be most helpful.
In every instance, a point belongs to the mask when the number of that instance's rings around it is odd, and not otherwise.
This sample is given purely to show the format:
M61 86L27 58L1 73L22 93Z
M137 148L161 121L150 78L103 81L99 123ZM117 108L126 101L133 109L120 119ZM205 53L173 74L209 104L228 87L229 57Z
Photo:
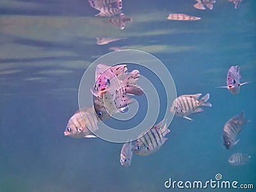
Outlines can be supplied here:
M194 8L198 10L213 9L215 0L195 0ZM241 4L242 0L228 0L234 3L235 9ZM122 13L122 0L91 0L88 1L90 6L99 13L95 17L112 17L109 22L113 26L123 30L125 29L125 22L132 22L131 17L125 17ZM170 13L168 20L200 20L200 17L186 15L184 13ZM107 45L111 42L124 40L124 38L115 37L95 37L97 45ZM110 47L111 51L119 51L126 46ZM99 63L95 70L95 84L91 88L93 99L93 106L83 108L70 117L65 128L64 135L71 138L97 138L94 131L97 131L98 122L104 121L114 113L122 113L129 104L132 104L128 95L143 95L143 88L138 86L137 81L140 78L139 70L132 70L128 72L127 65L115 65L109 67ZM231 66L227 72L226 86L218 88L227 88L233 95L240 92L240 87L249 82L240 82L241 74L238 65ZM210 102L210 94L206 93L201 97L202 93L184 94L177 97L172 102L170 113L177 117L193 120L189 115L200 113L204 111L202 106L212 107ZM200 98L201 97L201 98ZM250 122L249 119L244 118L244 111L240 115L233 116L223 126L223 145L227 150L231 150L239 140L236 140L237 134L244 128L244 124ZM132 154L139 156L148 156L156 153L164 143L168 140L166 135L170 132L166 125L166 120L162 120L153 127L148 127L147 131L141 132L138 138L134 141L127 141L122 146L120 152L120 163L122 166L128 167L132 162ZM240 166L249 162L250 155L244 153L234 153L228 158L228 163L234 166Z

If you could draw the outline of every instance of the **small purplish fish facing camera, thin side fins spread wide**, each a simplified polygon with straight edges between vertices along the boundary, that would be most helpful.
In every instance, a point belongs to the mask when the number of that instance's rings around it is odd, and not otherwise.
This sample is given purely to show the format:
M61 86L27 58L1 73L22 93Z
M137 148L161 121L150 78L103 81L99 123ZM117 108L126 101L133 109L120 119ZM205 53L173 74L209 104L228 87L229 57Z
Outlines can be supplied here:
M227 81L226 81L227 86L219 86L218 88L227 88L230 93L238 94L240 92L240 87L243 84L250 83L250 82L240 83L241 77L242 76L240 75L240 67L238 67L238 65L231 66L227 74Z

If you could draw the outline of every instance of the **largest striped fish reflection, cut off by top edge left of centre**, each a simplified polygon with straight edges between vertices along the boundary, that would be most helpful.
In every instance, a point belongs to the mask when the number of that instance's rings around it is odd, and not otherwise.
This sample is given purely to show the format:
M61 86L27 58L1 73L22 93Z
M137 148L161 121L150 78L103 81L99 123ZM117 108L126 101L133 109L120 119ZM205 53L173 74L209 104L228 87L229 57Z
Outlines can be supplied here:
M113 17L122 13L122 0L94 0L88 2L92 8L100 11L95 17Z

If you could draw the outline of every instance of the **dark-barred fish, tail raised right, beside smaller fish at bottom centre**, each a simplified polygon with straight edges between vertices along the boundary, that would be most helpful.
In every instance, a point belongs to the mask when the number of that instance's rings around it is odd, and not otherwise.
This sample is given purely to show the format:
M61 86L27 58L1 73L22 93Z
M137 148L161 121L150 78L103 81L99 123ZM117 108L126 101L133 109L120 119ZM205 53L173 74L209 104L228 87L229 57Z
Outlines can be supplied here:
M140 156L154 154L164 145L167 140L164 136L169 132L170 130L167 129L166 122L164 124L164 120L162 120L159 124L149 129L146 134L141 134L142 136L135 141L134 153Z

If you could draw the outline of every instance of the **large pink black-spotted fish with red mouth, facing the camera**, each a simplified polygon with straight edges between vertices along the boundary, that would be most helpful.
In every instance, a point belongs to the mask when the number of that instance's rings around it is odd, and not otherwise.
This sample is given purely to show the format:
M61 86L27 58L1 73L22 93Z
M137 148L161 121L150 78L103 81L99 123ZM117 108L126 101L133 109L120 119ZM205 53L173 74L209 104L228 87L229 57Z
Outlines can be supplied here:
M143 90L135 83L140 77L138 70L126 73L126 65L109 67L99 64L95 72L95 86L91 92L98 97L110 113L123 111L131 103L127 94L143 95Z

